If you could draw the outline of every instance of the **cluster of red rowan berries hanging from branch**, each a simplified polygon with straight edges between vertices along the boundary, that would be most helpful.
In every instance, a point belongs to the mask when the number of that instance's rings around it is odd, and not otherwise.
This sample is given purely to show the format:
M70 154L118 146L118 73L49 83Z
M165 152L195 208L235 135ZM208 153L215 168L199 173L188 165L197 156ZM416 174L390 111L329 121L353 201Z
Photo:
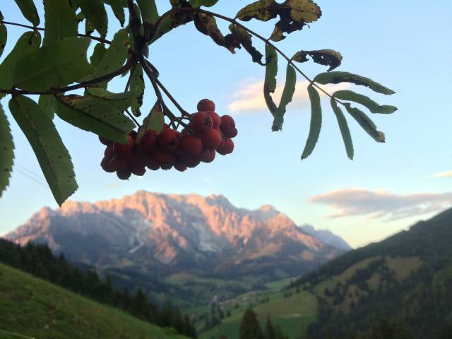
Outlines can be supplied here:
M198 112L191 115L187 128L171 129L167 124L160 133L145 131L140 142L131 131L126 144L114 143L99 137L107 145L100 165L105 172L116 172L119 179L131 174L142 176L148 169L171 169L180 172L213 162L215 154L227 155L234 150L232 138L237 136L235 122L229 115L215 113L215 103L208 99L198 102Z

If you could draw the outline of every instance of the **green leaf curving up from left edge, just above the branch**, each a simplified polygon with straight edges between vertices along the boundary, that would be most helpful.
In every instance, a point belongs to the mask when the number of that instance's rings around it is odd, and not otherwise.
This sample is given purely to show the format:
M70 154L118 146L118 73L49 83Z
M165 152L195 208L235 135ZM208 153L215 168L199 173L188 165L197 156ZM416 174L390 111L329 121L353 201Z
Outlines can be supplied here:
M40 44L41 35L39 32L23 33L16 42L16 46L0 65L0 88L7 90L13 87L13 70L18 60L23 55L35 51Z

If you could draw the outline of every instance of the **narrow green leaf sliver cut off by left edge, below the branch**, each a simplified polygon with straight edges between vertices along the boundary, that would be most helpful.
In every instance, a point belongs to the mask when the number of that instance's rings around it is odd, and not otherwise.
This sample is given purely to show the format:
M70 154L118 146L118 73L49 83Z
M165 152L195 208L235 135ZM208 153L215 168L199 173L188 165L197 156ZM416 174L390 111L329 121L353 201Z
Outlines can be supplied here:
M0 105L0 197L9 184L13 170L14 143L8 119Z

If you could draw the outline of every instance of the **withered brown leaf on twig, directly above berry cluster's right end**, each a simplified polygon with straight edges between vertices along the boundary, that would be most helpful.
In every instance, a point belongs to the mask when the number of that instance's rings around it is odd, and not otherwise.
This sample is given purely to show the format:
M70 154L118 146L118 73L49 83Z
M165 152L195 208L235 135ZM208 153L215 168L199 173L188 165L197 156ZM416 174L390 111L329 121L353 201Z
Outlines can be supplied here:
M194 17L194 23L199 32L208 35L216 44L226 47L231 53L235 53L235 49L240 47L240 42L237 37L232 34L222 35L222 32L218 28L217 20L213 16L205 13L197 13Z

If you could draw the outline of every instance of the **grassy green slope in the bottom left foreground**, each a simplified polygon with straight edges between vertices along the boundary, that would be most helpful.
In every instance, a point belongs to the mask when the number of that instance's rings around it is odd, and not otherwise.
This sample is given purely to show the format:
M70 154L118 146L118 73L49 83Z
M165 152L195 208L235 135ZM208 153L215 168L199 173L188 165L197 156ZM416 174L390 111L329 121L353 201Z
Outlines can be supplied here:
M37 339L183 339L0 264L0 329ZM0 332L0 339L18 336Z

